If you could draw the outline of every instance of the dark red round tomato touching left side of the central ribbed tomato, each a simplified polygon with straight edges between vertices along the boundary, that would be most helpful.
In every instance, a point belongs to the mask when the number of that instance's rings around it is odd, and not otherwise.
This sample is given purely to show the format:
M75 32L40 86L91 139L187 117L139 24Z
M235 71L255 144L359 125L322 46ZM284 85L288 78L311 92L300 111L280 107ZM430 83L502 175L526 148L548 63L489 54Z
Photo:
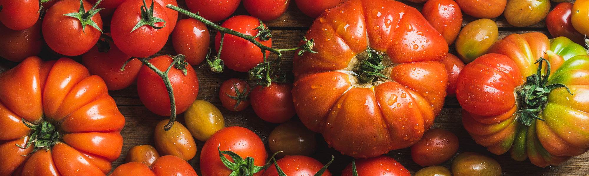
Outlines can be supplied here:
M293 89L290 83L273 82L269 87L256 86L250 93L252 109L260 119L270 123L284 123L296 114Z

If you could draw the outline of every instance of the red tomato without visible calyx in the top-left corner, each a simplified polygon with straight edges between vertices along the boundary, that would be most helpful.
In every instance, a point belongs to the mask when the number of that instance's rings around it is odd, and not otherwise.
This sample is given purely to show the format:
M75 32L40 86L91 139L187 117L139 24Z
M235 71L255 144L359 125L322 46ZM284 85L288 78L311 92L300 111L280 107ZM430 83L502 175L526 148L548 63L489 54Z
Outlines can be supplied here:
M31 28L39 19L37 0L2 0L0 6L0 22L14 31Z

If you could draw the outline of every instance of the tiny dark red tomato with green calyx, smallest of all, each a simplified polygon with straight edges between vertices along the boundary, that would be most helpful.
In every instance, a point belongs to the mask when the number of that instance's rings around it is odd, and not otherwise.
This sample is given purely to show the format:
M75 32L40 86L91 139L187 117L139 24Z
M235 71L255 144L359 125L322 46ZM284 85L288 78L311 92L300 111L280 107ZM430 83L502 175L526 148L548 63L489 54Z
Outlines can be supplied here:
M231 78L221 83L219 99L227 110L242 111L250 106L250 100L247 99L250 92L250 86L246 81Z

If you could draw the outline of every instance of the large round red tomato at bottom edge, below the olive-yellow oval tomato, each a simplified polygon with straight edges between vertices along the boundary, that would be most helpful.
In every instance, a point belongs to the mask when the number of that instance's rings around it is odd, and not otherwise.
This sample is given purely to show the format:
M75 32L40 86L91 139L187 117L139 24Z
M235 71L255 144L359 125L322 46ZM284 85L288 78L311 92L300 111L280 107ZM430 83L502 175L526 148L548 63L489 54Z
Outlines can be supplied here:
M217 147L219 148L217 150ZM244 127L226 127L211 136L203 145L200 153L200 171L206 176L227 176L231 170L221 163L219 150L233 151L241 158L253 157L254 165L263 166L266 164L266 148L259 136L253 131ZM228 155L225 157L233 162ZM263 171L257 172L256 176L262 175Z

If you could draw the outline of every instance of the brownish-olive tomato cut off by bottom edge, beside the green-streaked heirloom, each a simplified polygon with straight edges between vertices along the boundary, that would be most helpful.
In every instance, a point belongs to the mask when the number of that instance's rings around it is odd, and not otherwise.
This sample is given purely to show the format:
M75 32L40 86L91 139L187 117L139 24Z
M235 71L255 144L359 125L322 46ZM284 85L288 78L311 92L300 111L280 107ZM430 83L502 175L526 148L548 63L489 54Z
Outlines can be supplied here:
M501 165L493 158L474 152L461 153L452 162L454 176L498 176Z

